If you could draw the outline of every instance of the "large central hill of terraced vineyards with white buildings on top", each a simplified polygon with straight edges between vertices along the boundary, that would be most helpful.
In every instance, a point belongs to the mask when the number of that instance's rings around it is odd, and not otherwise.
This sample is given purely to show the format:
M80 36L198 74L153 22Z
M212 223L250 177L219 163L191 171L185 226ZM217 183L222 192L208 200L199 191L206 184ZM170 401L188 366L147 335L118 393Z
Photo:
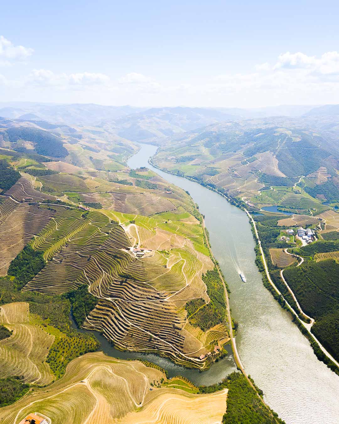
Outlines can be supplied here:
M103 332L120 349L160 352L178 363L206 366L197 358L208 351L212 339L183 329L182 309L192 298L208 301L202 275L213 263L203 253L208 250L199 221L191 217L166 223L161 215L83 212L62 205L53 209L53 218L32 242L44 252L47 265L23 290L56 295L86 284L98 298L83 324L86 329ZM125 219L125 227L114 218ZM152 252L136 258L131 245ZM228 340L226 327L215 334Z

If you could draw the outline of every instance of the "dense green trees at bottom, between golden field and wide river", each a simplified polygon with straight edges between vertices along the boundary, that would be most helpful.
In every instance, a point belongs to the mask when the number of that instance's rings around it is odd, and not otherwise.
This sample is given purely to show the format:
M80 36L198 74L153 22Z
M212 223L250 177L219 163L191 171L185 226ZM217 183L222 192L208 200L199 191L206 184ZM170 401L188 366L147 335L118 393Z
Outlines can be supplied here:
M283 424L278 414L261 401L246 377L239 372L233 372L220 383L200 386L199 393L214 393L224 388L228 389L228 396L223 424Z

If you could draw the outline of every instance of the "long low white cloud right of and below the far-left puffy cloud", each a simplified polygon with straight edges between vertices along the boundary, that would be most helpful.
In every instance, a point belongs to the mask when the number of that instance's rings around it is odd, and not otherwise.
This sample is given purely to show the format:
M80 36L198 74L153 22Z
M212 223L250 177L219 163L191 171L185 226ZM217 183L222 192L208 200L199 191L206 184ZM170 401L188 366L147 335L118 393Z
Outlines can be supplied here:
M108 85L109 77L102 73L73 73L73 74L56 74L46 69L34 69L28 75L27 82L36 86L58 86L64 88L74 88L98 85Z

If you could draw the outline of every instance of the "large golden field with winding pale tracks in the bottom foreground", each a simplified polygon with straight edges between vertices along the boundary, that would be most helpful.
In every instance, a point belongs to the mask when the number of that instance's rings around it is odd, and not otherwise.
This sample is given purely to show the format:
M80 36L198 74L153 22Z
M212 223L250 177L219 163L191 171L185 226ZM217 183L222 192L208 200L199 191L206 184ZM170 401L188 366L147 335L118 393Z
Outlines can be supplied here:
M139 361L123 361L102 352L73 360L66 374L47 388L37 388L0 409L0 421L17 424L32 410L53 423L216 424L226 410L227 389L188 393L187 385L166 384L162 371ZM153 390L151 383L153 385ZM181 390L182 389L182 390ZM5 422L5 421L3 421Z

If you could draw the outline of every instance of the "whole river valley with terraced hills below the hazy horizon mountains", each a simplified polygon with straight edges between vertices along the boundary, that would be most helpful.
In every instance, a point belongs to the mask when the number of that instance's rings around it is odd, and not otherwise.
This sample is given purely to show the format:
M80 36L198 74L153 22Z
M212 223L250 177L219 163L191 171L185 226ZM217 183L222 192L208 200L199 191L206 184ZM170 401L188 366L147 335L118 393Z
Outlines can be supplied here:
M172 111L138 113L158 120ZM193 128L207 112L194 113ZM194 410L202 422L233 422L240 398L247 418L268 420L258 422L282 422L270 407L287 423L334 422L336 367L295 325L337 358L333 129L320 137L295 128L299 118L220 124L220 116L209 117L211 128L152 137L157 146L138 145L133 126L114 134L102 123L2 121L0 360L8 371L0 384L18 391L0 409L4 422L33 404L64 420L65 399L69 422L96 422L99 413L107 422L189 423ZM293 161L305 154L311 160L296 172ZM260 273L261 255L279 296ZM325 273L333 275L327 285ZM32 346L22 349L29 339L41 349L34 360ZM72 371L77 364L86 376ZM129 382L129 369L148 383ZM123 406L106 386L124 391ZM88 398L80 407L78 390ZM139 403L134 390L144 393ZM205 412L196 407L203 402Z

